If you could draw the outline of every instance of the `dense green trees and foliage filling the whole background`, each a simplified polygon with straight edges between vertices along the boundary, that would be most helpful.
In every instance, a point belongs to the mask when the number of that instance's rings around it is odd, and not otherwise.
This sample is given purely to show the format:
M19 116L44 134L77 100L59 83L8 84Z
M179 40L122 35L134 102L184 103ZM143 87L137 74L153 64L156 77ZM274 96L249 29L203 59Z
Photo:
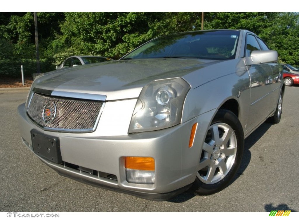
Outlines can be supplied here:
M298 13L204 13L204 29L247 29L277 50L280 61L299 65ZM37 13L42 72L71 55L119 59L157 36L201 29L201 13ZM0 75L36 73L33 13L0 13Z

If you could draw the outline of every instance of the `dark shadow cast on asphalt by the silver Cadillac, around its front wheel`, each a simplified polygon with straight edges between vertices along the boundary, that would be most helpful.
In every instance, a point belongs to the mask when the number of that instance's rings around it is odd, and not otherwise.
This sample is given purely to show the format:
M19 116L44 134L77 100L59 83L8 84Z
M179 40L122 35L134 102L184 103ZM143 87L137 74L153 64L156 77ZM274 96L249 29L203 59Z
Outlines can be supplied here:
M250 159L251 159L250 148L269 130L269 128L272 125L273 124L267 123L267 122L263 123L253 133L251 133L251 135L249 135L245 139L244 154L243 154L243 159L242 159L241 165L239 167L237 175L233 178L231 183L228 184L228 186L231 185L236 179L238 179L243 174L243 172L247 168L247 166L250 162ZM189 199L191 199L195 196L196 196L196 194L194 194L192 188L190 188L189 190L185 191L184 193L179 194L176 197L173 197L173 198L171 198L170 200L167 200L167 201L168 202L180 203L180 202L185 202L185 201L187 201L187 200L189 200Z

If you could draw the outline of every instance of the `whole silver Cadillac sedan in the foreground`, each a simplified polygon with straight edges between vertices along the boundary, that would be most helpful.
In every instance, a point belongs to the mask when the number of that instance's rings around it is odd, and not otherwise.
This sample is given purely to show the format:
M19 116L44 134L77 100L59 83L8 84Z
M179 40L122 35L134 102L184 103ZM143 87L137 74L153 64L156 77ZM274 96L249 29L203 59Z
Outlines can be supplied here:
M20 105L23 143L59 174L151 200L221 191L244 138L278 123L277 52L247 30L158 37L120 60L45 73Z

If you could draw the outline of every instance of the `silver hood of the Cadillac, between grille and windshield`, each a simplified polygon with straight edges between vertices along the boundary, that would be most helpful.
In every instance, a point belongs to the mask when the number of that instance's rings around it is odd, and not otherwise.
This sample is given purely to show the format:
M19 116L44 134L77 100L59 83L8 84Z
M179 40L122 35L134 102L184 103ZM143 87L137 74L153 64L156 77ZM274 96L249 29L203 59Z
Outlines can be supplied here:
M81 65L45 73L33 88L105 95L106 100L137 98L144 85L157 79L183 77L219 61L136 59Z

